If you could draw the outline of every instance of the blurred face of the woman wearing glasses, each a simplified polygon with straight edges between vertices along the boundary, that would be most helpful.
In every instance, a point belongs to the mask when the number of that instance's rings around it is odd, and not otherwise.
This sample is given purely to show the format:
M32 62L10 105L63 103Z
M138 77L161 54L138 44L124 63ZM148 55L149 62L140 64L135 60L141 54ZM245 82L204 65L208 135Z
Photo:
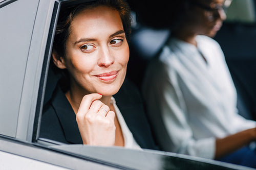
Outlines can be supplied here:
M220 30L222 21L226 19L222 8L224 0L198 0L197 2L200 5L192 5L189 25L195 33L213 37ZM205 7L212 10L207 10Z

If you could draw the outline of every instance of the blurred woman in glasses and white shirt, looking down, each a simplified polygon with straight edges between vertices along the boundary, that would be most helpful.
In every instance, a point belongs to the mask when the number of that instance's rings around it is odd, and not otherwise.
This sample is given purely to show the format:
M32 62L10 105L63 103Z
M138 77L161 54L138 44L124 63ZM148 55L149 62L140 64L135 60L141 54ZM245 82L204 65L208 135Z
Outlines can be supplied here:
M225 1L175 2L169 10L179 18L165 23L172 35L143 85L160 148L255 167L256 154L246 145L256 139L256 124L237 113L223 52L210 38L226 18Z

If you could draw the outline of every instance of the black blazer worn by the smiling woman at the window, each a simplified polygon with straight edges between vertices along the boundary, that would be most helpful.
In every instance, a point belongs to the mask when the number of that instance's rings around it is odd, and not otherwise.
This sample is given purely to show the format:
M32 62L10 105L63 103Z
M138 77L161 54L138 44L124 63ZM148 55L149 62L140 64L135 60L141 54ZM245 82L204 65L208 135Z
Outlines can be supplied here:
M125 80L114 98L127 127L140 147L158 149L136 86ZM39 136L68 144L82 144L75 113L58 85L51 100L44 107Z

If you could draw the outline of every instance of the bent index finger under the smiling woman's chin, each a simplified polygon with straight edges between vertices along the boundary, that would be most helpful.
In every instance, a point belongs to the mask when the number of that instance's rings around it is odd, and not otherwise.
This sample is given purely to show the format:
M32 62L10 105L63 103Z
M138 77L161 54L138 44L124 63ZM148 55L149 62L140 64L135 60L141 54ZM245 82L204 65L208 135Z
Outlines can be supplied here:
M82 98L82 101L80 103L79 109L77 113L87 113L88 110L90 109L92 103L95 100L99 100L102 97L101 94L98 93L92 93L92 94L87 94L84 95Z

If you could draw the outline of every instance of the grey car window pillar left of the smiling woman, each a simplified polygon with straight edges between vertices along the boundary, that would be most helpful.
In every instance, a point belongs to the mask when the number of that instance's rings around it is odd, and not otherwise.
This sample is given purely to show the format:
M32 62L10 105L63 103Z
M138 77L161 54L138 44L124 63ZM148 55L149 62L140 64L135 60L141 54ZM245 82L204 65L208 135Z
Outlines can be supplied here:
M45 60L45 50L47 46L54 3L54 0L39 0L36 18L34 20L33 33L30 41L16 132L17 139L29 142L33 141L33 136L35 134L35 120L39 116L38 112L36 111L38 104L37 100L40 94L38 89L41 85L40 78L43 67L42 63Z

